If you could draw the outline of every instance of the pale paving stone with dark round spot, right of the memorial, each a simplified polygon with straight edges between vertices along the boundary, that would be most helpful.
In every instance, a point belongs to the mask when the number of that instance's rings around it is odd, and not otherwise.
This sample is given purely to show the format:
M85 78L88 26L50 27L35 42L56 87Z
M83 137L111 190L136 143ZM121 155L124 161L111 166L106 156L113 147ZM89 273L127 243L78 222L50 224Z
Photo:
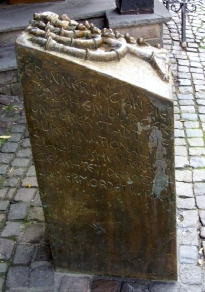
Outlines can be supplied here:
M177 212L177 225L179 227L196 227L198 222L198 212L195 210Z

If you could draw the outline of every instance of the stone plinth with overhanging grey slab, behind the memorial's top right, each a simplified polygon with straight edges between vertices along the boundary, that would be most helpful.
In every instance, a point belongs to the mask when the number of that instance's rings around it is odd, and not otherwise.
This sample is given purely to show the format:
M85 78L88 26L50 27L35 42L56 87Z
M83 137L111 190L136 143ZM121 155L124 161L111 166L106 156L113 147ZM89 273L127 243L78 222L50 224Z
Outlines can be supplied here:
M144 38L151 46L163 47L163 24L171 20L165 6L154 1L153 14L120 15L117 9L106 12L107 27L117 29L120 33L129 33L135 38Z

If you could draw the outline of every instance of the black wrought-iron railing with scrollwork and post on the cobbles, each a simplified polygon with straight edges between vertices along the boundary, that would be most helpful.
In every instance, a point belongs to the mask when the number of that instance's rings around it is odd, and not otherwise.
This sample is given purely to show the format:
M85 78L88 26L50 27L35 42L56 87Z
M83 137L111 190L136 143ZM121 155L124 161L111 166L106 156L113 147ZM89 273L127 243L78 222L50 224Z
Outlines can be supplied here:
M186 47L186 11L194 12L196 2L201 0L163 0L168 10L179 12L181 10L181 46Z

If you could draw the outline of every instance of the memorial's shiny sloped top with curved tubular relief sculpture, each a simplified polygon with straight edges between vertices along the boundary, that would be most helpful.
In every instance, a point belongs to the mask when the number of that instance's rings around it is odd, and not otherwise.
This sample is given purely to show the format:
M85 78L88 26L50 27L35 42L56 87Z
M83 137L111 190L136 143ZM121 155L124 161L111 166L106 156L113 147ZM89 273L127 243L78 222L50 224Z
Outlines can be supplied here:
M123 74L124 77L127 76L126 81L136 86L144 88L152 86L143 84L149 76L153 81L153 88L148 90L172 99L170 88L168 88L170 86L166 85L167 82L170 83L168 53L160 46L150 46L142 38L136 40L129 34L122 35L107 28L100 30L88 21L78 23L71 20L66 14L39 12L34 14L34 19L17 39L18 43L24 43L64 58L75 58L78 63L82 64L83 61L84 64L89 64L93 70L97 70L97 67L101 72L103 71L105 74L109 72L113 77L117 72L119 79ZM125 59L127 67L130 68L122 70L120 68L121 60ZM97 66L93 64L97 64ZM139 69L142 67L141 71L145 72L139 74ZM130 72L132 72L131 75ZM157 82L158 89L154 88L156 79L158 82L161 80L160 84Z

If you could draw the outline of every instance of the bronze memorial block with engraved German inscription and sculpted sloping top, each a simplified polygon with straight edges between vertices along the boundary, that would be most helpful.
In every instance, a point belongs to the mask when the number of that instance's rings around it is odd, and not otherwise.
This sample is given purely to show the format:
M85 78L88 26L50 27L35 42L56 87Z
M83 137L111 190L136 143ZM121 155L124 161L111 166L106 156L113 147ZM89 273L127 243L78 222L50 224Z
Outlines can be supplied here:
M175 280L167 52L43 12L16 55L54 265Z

